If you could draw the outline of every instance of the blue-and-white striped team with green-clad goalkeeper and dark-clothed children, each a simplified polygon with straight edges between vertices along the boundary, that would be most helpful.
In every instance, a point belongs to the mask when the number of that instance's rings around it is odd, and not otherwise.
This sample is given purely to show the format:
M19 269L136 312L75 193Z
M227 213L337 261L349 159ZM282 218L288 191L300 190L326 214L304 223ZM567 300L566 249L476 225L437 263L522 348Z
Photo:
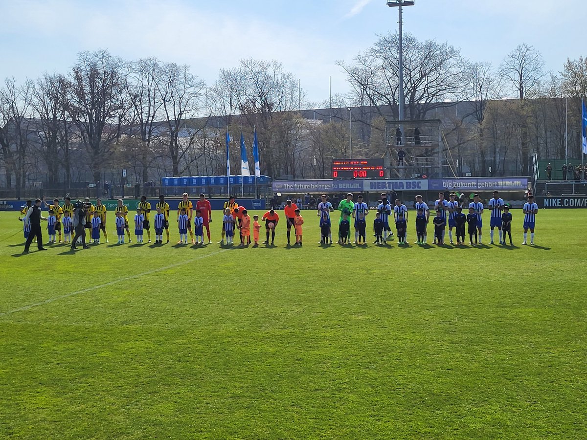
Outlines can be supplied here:
M318 204L318 216L320 217L321 243L332 244L332 224L330 221L330 212L334 211L332 204L322 195L322 201ZM376 208L376 218L373 221L373 232L375 232L376 244L386 244L387 238L393 236L392 229L389 226L389 217L393 212L393 220L396 226L397 239L399 243L408 244L407 221L408 209L402 204L400 199L394 201L394 206L387 200L387 194L381 194L381 203ZM338 211L340 211L338 243L345 244L350 242L350 221L349 216L355 219L355 241L353 243L366 244L366 216L369 214L369 207L363 202L363 197L359 195L356 203L353 202L353 194L349 192L345 200L340 201ZM290 201L288 201L289 204ZM427 243L427 224L430 218L430 208L423 201L421 195L416 196L416 234L417 244ZM450 194L449 199L444 199L442 192L438 193L438 199L434 202L436 216L433 218L434 224L434 244L443 245L446 226L448 225L448 238L450 244L454 244L453 229L458 245L464 244L465 224L468 225L468 235L470 245L483 243L483 213L485 207L478 194L474 195L473 202L468 205L468 214L463 214L463 208L456 199L456 194ZM286 207L287 209L287 207ZM512 214L510 207L500 198L499 192L493 192L493 198L488 202L491 211L490 215L490 245L494 244L494 229L498 229L499 243L505 245L505 234L507 233L512 245L511 223ZM528 229L530 230L530 244L534 245L534 226L535 218L538 213L538 205L534 202L534 196L528 196L528 202L522 208L524 212L524 241L522 245L527 244ZM388 235L389 233L389 235Z

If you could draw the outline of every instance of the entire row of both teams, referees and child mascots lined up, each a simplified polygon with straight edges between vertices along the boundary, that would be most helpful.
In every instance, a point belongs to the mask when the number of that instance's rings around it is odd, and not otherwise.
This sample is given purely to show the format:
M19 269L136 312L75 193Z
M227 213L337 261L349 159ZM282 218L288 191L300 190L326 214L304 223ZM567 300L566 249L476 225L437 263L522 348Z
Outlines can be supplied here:
M386 243L387 238L393 236L393 232L389 226L389 216L393 212L393 220L396 226L397 238L399 243L407 244L407 221L408 221L408 210L406 205L402 204L400 199L394 201L392 208L391 203L387 200L387 194L381 194L382 201L377 206L376 218L373 221L373 231L375 232L376 241L375 243ZM330 212L334 211L332 204L328 202L326 195L322 195L322 201L318 204L317 215L320 217L321 227L321 243L332 243L332 231L330 222ZM350 222L349 216L355 219L355 241L353 243L366 243L366 216L369 214L368 205L363 202L362 195L357 198L358 201L353 202L353 194L347 194L345 200L341 201L338 206L340 211L339 219L339 239L338 243L350 242ZM44 201L43 201L44 202ZM86 202L89 202L89 198L86 198ZM27 202L29 205L29 202ZM49 243L56 242L56 232L59 234L59 242L62 242L61 235L61 223L63 223L63 232L65 242L71 241L72 231L72 216L73 216L73 204L70 198L65 199L65 204L60 207L59 200L54 199L53 205L49 205L45 202L46 207L49 208L48 217L48 231L49 231ZM21 214L26 214L30 206L23 207ZM416 196L416 233L417 233L417 244L426 244L427 242L427 224L429 223L430 209L428 205L423 202L421 195ZM203 228L207 230L208 243L211 243L210 235L210 223L212 221L212 210L210 202L205 199L204 194L200 194L200 199L196 203L195 216L193 204L188 200L188 194L182 195L182 200L178 204L177 209L177 222L180 230L180 241L179 243L187 244L187 235L189 233L191 242L193 244L203 244L204 234ZM449 200L444 199L442 192L438 193L438 199L434 202L434 208L436 209L436 216L433 218L434 224L434 243L444 244L444 234L446 231L446 225L448 224L448 236L450 243L454 244L453 241L453 229L456 232L457 244L464 243L464 225L468 224L468 234L470 236L470 244L482 243L483 242L483 218L484 212L483 202L477 194L474 196L474 201L469 204L468 214L462 214L463 207L459 205L456 200L455 194L450 194ZM165 201L163 195L160 196L160 201L156 204L157 214L154 215L154 229L156 232L156 243L163 243L163 230L166 231L167 243L169 243L169 214L170 207ZM498 191L493 192L493 198L488 203L488 209L491 210L490 226L491 226L491 241L494 241L494 228L498 228L499 231L499 243L505 245L505 233L508 233L511 239L511 221L512 215L509 212L510 207L505 205L503 199L499 197ZM531 242L534 244L534 225L535 215L538 212L538 205L534 203L533 196L528 197L528 202L524 205L524 242L527 243L527 232L528 229L531 231ZM504 212L502 212L504 211ZM285 218L287 225L287 239L288 245L291 239L291 228L293 227L296 235L296 245L302 244L302 224L303 218L299 214L299 209L291 200L286 202ZM137 237L137 242L143 242L143 231L147 231L147 240L151 242L150 236L150 213L151 204L147 202L146 197L141 197L137 208L137 214L134 216L134 232ZM118 236L118 243L124 243L124 232L127 233L129 243L131 242L130 231L129 231L129 211L126 205L123 204L122 199L119 199L115 208L116 215L116 229ZM448 216L447 216L448 215ZM21 219L21 218L19 218ZM244 219L244 224L242 224ZM252 222L255 244L258 244L260 225L258 223L258 216L254 216ZM275 227L279 222L279 215L274 211L266 212L262 221L265 221L266 229L266 240L264 243L269 243L269 235L271 234L271 244L274 243L275 239ZM191 224L194 223L194 229ZM25 224L24 232L25 238L28 236L28 228ZM92 240L95 243L100 243L100 232L103 233L106 242L108 243L108 235L106 231L106 207L102 204L100 199L97 199L96 206L90 205L86 214L86 225L87 229L92 232ZM224 243L225 236L227 237L227 244L234 242L234 231L239 229L239 235L241 238L241 245L250 244L250 231L251 231L251 219L248 216L248 212L244 207L239 207L235 202L234 197L230 197L228 202L224 203L223 207L223 218L222 218L222 238L219 243ZM194 240L195 231L195 240ZM389 235L388 235L389 232ZM503 236L502 236L503 233Z

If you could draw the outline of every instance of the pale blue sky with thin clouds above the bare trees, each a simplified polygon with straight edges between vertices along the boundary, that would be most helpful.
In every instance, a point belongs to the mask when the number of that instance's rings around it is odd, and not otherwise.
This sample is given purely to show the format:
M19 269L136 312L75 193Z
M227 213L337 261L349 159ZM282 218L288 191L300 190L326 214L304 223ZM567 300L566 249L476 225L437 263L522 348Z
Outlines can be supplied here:
M404 29L448 41L471 60L499 65L519 43L542 52L546 68L587 55L585 0L416 0ZM241 57L278 59L301 79L308 99L349 87L336 60L351 60L397 28L386 0L0 0L0 78L21 81L66 72L82 50L125 59L187 63L208 84Z

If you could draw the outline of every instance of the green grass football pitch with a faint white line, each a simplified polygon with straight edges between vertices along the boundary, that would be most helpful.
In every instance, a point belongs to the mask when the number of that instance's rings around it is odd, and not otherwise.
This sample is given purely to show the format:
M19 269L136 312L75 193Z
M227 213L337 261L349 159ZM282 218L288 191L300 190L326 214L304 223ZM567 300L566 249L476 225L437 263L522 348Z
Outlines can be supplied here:
M464 249L323 249L313 211L302 249L283 223L117 246L110 218L110 245L22 256L2 212L0 438L587 438L586 212Z

